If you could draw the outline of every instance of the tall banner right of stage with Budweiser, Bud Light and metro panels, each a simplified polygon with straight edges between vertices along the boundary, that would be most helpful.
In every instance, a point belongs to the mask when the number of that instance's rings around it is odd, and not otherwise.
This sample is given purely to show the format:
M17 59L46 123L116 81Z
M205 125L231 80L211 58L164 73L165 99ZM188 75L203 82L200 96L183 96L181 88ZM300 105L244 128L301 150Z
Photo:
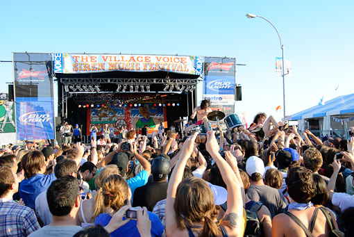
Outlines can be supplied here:
M203 99L212 104L235 104L235 58L205 57Z

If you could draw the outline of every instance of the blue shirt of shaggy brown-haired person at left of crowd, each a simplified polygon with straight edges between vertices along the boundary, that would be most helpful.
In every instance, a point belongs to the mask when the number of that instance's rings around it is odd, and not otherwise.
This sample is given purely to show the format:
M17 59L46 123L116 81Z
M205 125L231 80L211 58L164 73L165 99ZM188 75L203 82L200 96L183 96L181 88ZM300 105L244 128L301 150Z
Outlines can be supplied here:
M54 180L56 180L54 174L36 174L29 179L24 179L19 183L19 197L24 200L26 206L35 209L35 198L46 191Z

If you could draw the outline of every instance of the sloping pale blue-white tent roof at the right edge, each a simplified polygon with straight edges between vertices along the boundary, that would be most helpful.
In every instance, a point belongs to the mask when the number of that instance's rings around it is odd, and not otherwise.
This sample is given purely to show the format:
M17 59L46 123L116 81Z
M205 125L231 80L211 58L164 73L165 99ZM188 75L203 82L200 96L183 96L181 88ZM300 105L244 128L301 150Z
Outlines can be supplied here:
M295 113L288 117L288 120L303 120L312 117L325 117L331 115L342 115L341 117L351 117L354 115L354 94L343 95L323 103L323 105L313 106Z

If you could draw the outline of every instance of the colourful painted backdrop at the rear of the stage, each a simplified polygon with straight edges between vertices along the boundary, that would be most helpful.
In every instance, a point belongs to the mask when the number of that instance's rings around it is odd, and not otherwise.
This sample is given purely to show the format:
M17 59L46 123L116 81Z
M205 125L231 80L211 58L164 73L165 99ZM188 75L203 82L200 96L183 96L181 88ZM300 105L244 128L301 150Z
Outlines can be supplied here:
M115 133L121 126L126 126L127 129L141 129L148 125L149 132L158 131L158 126L162 122L167 127L165 107L155 107L154 104L145 103L141 106L104 106L101 108L88 108L90 115L87 116L87 134L90 134L90 127L95 125L101 129L104 124L113 124Z

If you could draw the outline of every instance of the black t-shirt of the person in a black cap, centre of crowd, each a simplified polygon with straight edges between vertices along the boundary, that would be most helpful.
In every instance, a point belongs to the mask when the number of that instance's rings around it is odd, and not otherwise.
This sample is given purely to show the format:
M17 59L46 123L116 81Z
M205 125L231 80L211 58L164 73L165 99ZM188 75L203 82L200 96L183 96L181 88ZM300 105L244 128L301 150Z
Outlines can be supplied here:
M146 183L145 186L135 189L132 206L146 206L153 211L155 204L167 197L167 182Z

